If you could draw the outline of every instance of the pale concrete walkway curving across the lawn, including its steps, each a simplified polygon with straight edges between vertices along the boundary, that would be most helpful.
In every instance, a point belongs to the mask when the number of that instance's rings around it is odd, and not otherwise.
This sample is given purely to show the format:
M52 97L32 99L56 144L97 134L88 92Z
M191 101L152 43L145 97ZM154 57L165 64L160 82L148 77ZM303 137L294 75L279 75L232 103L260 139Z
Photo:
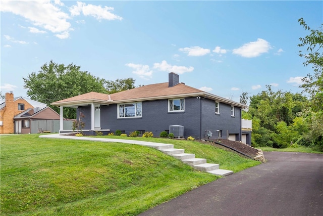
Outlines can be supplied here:
M220 169L220 165L216 163L207 163L204 158L195 158L195 154L184 153L184 149L174 149L173 144L164 143L153 143L138 140L122 140L122 139L110 139L110 138L92 138L92 137L75 137L75 136L65 136L62 134L48 134L40 135L40 138L55 138L55 139L72 139L72 140L82 140L82 141L97 141L97 142L119 142L127 144L136 144L146 147L151 147L157 149L167 155L175 157L182 160L197 170L205 171L217 176L228 176L233 174L233 171L227 169Z

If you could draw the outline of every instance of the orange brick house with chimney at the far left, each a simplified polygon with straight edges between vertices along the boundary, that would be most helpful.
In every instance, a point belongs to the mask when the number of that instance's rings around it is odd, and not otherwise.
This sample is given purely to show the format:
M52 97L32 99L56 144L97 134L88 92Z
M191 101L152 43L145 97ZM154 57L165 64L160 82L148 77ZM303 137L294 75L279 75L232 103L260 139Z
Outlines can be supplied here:
M24 97L14 98L12 92L6 93L5 101L0 104L0 134L14 134L14 117L29 108L45 108L46 104Z

